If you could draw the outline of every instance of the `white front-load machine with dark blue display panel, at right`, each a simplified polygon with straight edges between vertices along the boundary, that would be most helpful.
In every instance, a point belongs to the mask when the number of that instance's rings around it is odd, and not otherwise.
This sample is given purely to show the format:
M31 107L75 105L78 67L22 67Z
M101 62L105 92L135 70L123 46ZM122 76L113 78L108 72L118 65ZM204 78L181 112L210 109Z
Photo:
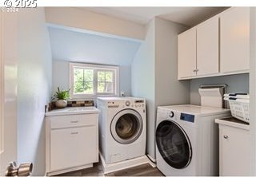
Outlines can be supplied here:
M229 109L195 105L159 106L157 167L164 175L218 175L218 126Z

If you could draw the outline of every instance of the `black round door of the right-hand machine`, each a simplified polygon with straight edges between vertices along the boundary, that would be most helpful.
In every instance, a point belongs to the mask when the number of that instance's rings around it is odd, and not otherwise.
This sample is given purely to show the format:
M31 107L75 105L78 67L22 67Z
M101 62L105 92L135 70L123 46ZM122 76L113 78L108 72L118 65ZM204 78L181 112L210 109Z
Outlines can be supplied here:
M171 120L164 120L158 124L156 130L156 144L162 158L177 169L190 164L192 149L186 132Z

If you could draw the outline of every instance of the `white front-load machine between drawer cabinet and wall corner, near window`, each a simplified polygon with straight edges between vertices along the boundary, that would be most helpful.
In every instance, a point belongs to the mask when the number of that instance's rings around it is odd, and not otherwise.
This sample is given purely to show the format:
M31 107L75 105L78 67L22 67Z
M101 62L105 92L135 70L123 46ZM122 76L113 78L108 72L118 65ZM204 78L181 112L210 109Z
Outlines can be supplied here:
M106 164L146 154L146 102L135 97L98 98L99 143Z

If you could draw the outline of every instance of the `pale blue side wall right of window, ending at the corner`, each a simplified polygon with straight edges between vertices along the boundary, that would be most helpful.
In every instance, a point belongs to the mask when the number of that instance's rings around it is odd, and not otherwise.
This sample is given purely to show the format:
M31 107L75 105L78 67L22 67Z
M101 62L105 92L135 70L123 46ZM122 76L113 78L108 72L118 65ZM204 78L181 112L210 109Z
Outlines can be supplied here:
M132 96L146 98L147 153L154 158L154 20L146 26L146 39L131 65Z

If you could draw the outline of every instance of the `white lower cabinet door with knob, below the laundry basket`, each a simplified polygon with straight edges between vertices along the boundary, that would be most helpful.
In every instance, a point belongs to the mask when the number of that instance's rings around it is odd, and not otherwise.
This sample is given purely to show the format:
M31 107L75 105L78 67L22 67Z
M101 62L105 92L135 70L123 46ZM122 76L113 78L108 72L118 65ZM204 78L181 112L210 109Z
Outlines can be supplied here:
M230 127L220 130L220 175L250 175L249 132Z

